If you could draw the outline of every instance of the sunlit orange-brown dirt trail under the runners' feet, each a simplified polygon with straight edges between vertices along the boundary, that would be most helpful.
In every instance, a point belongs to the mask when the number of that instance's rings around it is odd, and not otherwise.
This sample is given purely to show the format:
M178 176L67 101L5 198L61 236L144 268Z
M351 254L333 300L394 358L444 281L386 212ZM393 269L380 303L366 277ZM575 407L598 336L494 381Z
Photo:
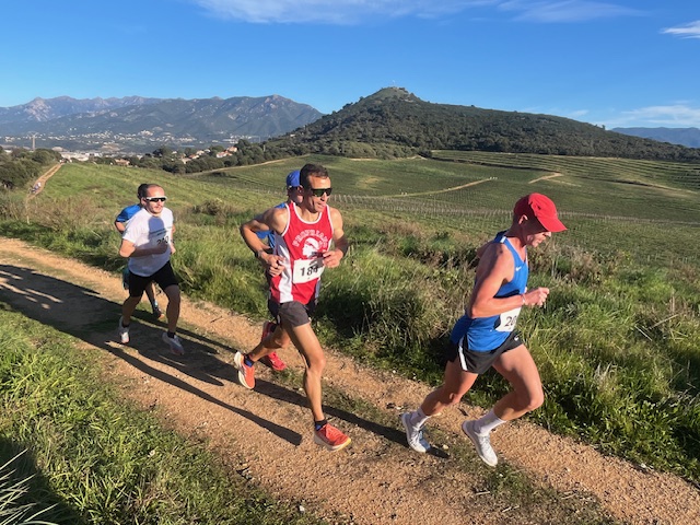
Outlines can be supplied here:
M301 389L282 386L262 366L254 392L236 383L233 352L257 343L258 324L185 299L180 336L187 354L175 358L160 340L162 325L151 323L145 310L132 325L131 347L115 342L124 298L116 276L0 237L0 301L80 338L84 351L101 352L126 397L182 434L207 441L231 468L278 498L302 502L331 523L557 523L553 510L525 514L481 493L489 470L476 455L471 468L464 468L450 457L405 446L394 407L413 408L428 393L424 385L370 373L329 352L326 383L390 413L396 424L327 406L327 415L353 440L346 451L327 453L313 444ZM282 357L301 372L293 350ZM431 425L457 443L463 419L454 409ZM620 522L700 523L700 491L674 476L642 471L527 422L500 428L493 443L501 460L536 486L552 488L562 499L593 497Z

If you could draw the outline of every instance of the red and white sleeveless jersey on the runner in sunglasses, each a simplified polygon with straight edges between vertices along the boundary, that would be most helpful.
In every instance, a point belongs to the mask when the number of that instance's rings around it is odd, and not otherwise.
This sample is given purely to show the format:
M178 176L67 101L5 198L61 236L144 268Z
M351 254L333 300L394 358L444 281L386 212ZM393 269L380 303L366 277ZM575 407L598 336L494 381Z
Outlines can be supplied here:
M322 254L332 240L330 212L326 207L314 222L306 222L294 202L285 208L287 228L275 234L275 255L284 257L284 271L271 279L270 295L279 304L291 301L308 304L318 296L324 271Z

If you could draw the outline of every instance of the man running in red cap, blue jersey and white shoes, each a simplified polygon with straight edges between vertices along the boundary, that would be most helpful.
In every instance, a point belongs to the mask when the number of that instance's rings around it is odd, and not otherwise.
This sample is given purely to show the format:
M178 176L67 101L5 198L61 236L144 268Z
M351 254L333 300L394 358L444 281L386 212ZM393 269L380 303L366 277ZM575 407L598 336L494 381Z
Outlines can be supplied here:
M412 450L422 453L430 450L430 443L423 439L428 419L458 404L479 374L491 366L511 384L511 392L486 416L462 424L487 465L498 464L491 431L544 402L539 372L515 331L515 323L521 308L542 306L549 294L547 288L527 291L527 247L535 247L552 232L565 229L555 203L541 194L530 194L515 203L511 228L479 249L469 305L450 337L443 385L430 393L416 411L401 415Z

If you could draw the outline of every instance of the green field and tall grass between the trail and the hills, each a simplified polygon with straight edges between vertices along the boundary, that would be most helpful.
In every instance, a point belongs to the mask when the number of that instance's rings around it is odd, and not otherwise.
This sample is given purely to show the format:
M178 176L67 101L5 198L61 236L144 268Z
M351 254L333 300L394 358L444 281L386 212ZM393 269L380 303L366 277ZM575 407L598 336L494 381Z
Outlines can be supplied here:
M284 198L289 171L319 162L352 244L324 283L324 342L435 383L476 248L508 228L518 197L544 192L569 230L530 254L530 285L552 290L547 310L522 319L547 394L530 419L700 481L700 166L435 158L317 156L190 176L70 164L26 208L5 205L1 226L116 275L114 218L140 183L159 183L177 220L173 262L185 293L261 318L264 279L238 225ZM466 400L488 406L504 388L487 375Z

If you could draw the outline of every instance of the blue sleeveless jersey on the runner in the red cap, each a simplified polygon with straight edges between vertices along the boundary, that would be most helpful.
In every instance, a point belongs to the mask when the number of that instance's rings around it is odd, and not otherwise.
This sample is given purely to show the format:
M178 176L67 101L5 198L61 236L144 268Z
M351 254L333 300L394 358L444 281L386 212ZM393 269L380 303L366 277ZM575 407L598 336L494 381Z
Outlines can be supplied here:
M510 298L512 295L525 293L527 290L527 277L529 273L527 262L521 259L517 250L503 234L504 232L500 232L493 242L503 244L511 252L513 255L513 261L515 262L515 271L513 279L501 285L499 291L495 293L495 298ZM465 314L457 319L457 323L455 323L450 339L456 345L464 346L465 341L463 341L463 338L466 336L466 342L469 350L476 352L495 350L515 329L515 324L520 313L521 307L489 317L471 318Z

